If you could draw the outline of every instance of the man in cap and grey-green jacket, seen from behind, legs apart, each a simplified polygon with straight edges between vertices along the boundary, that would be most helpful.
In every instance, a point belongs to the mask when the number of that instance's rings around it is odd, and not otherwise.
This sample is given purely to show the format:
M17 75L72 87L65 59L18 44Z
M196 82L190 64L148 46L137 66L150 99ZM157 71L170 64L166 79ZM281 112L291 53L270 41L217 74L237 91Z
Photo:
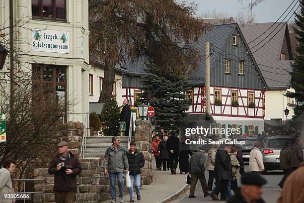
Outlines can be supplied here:
M190 158L189 171L191 176L191 186L189 198L195 198L194 192L196 188L197 181L200 180L202 189L204 192L204 197L209 196L209 187L206 182L205 177L205 147L200 146L199 150L195 152Z

